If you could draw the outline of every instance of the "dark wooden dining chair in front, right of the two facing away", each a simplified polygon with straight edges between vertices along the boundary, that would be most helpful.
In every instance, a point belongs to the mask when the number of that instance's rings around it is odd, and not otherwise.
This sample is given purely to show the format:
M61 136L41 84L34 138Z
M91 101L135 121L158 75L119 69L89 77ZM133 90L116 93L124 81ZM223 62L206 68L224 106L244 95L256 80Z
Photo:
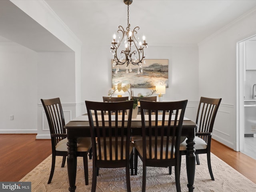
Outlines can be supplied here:
M138 156L142 160L142 192L146 191L146 166L175 166L176 190L180 192L180 136L188 100L177 102L152 102L141 100L142 140L134 142L135 175ZM148 110L148 116L145 115ZM180 114L172 115L177 110ZM152 111L155 111L154 113ZM148 124L146 124L148 120Z

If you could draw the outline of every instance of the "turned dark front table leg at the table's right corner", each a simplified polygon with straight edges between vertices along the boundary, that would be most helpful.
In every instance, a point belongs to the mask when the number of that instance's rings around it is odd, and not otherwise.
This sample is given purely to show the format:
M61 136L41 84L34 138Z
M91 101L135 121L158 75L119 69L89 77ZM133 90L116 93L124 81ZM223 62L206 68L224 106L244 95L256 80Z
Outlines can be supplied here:
M194 134L188 136L186 140L187 143L187 154L186 154L186 166L187 166L187 176L188 176L188 191L193 192L194 190L194 178L196 170L196 155L195 155L195 142Z

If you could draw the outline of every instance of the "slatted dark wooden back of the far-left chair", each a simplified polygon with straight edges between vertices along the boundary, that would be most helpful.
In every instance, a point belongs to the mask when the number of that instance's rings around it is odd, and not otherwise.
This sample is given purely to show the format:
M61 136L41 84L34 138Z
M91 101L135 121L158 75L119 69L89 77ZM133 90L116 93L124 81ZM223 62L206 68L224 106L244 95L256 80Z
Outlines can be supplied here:
M64 114L60 103L60 98L41 99L44 106L44 111L48 120L51 134L66 134ZM66 136L51 137L54 140L54 146Z

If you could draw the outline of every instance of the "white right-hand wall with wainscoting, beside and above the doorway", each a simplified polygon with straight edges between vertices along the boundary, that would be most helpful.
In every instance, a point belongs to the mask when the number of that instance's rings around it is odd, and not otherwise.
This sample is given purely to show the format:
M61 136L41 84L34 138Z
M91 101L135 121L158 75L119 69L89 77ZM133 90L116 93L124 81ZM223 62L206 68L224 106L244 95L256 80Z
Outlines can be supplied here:
M236 148L236 43L256 34L256 12L199 44L199 96L222 98L213 138Z

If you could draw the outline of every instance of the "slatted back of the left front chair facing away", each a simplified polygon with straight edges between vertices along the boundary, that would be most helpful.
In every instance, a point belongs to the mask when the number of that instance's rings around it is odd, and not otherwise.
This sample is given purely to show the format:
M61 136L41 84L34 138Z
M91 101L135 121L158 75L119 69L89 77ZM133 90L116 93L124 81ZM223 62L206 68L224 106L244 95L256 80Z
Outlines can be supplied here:
M85 103L94 159L106 162L129 159L129 150L125 149L130 147L133 101Z

